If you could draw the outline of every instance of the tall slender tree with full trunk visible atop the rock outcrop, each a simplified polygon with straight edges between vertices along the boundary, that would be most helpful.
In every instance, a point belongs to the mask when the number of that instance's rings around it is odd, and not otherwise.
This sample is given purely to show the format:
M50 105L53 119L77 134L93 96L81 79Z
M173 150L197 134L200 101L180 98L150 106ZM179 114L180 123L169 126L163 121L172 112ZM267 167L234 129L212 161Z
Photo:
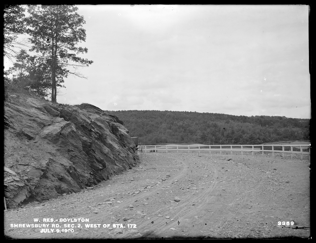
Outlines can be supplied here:
M93 63L77 56L88 52L86 47L77 46L86 40L82 28L85 21L77 10L74 5L30 5L27 9L30 16L26 18L29 26L26 32L33 44L30 51L41 53L37 58L42 63L45 59L50 66L52 102L56 102L58 79L69 74L85 78L76 69Z

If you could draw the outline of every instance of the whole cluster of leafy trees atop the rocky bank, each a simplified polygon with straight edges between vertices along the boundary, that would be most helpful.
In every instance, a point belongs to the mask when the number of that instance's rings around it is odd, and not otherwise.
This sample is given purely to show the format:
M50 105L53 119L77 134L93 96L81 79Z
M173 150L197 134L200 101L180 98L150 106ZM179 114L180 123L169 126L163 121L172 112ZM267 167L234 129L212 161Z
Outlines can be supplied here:
M5 88L13 85L39 96L51 94L56 102L64 78L84 78L76 69L93 61L78 56L88 49L78 46L86 33L77 10L74 5L4 5L3 56L15 60L4 72ZM27 41L19 40L23 35L29 36Z

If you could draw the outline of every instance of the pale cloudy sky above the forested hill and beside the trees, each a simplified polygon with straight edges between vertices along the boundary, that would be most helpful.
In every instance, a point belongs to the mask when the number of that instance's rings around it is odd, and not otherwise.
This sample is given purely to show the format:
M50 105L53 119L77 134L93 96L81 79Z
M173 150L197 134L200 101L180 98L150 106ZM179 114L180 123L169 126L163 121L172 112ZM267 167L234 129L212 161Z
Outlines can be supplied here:
M77 5L93 60L57 102L311 118L307 5Z

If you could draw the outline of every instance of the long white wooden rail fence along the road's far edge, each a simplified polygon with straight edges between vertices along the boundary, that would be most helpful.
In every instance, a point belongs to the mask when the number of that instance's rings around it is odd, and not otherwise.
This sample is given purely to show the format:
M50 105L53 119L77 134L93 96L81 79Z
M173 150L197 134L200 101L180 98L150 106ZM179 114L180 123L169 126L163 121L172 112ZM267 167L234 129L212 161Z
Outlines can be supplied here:
M272 152L272 156L274 153L282 153L283 156L285 153L290 153L291 158L293 158L293 154L301 154L301 159L303 159L303 155L309 155L310 159L310 148L308 145L298 144L298 145L282 145L282 144L264 144L264 145L143 145L143 149L145 152L158 152L158 151L185 151L188 153L190 151L230 151L233 152L241 151L241 155L243 152L252 152L252 155L256 152L262 153L264 152Z

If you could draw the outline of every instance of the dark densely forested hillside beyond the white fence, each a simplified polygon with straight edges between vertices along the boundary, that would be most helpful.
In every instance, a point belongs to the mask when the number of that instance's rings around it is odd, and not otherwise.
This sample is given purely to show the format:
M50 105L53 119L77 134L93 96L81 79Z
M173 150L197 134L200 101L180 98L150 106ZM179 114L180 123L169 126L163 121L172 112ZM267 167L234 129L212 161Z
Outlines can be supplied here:
M108 111L139 144L261 144L309 140L309 119L177 111Z

